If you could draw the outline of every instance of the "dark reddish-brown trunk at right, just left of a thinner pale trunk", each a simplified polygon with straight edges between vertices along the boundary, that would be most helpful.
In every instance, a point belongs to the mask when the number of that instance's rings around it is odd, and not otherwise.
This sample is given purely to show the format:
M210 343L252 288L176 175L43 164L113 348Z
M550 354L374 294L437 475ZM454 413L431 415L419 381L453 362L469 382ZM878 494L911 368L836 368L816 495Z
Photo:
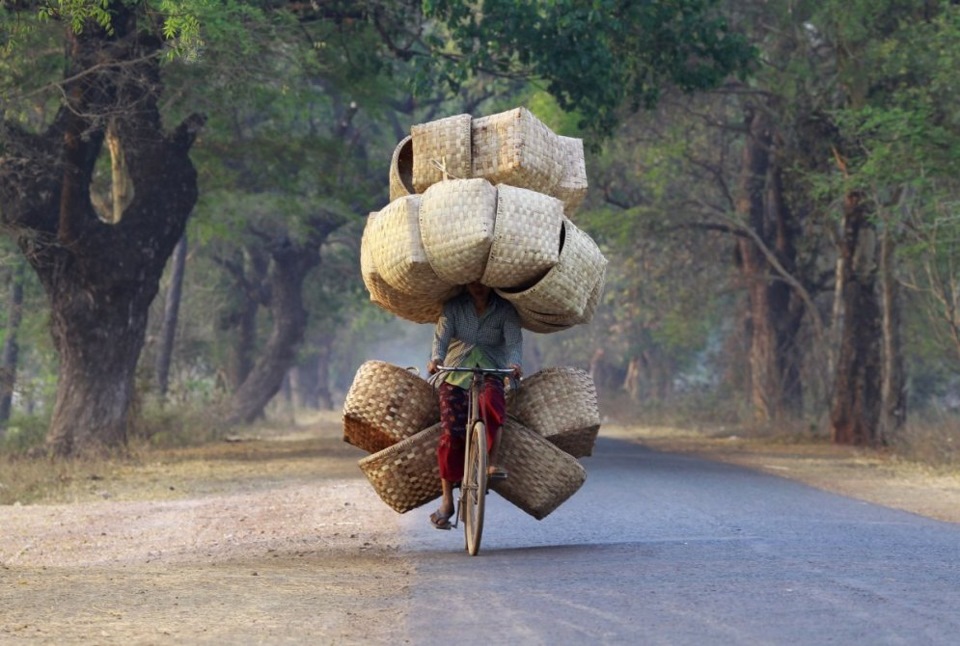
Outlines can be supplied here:
M873 446L881 412L883 349L881 308L877 296L877 245L863 196L844 198L840 241L842 299L840 347L830 413L831 437L837 444Z

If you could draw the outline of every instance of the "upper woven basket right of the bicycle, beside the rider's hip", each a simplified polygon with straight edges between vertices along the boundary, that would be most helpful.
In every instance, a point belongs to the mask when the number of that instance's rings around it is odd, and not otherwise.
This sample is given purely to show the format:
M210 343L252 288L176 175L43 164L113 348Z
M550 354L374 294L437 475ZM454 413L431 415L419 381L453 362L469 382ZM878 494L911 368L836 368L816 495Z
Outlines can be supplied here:
M593 454L600 409L593 378L572 367L545 368L512 391L507 411L575 458Z

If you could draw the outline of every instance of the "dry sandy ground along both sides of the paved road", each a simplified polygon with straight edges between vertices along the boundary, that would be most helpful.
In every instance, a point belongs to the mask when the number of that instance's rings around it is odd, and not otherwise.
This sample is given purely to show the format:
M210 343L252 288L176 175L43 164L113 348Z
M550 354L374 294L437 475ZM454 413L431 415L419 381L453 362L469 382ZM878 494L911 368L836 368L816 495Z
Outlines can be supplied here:
M601 433L960 522L960 475L823 443L607 424ZM385 641L411 578L398 516L335 415L150 453L0 509L0 644Z

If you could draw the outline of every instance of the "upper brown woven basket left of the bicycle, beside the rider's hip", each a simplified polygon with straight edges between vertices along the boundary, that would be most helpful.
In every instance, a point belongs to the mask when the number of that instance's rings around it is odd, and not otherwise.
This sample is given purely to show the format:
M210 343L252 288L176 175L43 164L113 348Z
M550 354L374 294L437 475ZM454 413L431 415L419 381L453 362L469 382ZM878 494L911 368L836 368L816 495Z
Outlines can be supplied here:
M385 361L367 361L343 403L343 439L376 453L439 419L436 392L425 379Z

